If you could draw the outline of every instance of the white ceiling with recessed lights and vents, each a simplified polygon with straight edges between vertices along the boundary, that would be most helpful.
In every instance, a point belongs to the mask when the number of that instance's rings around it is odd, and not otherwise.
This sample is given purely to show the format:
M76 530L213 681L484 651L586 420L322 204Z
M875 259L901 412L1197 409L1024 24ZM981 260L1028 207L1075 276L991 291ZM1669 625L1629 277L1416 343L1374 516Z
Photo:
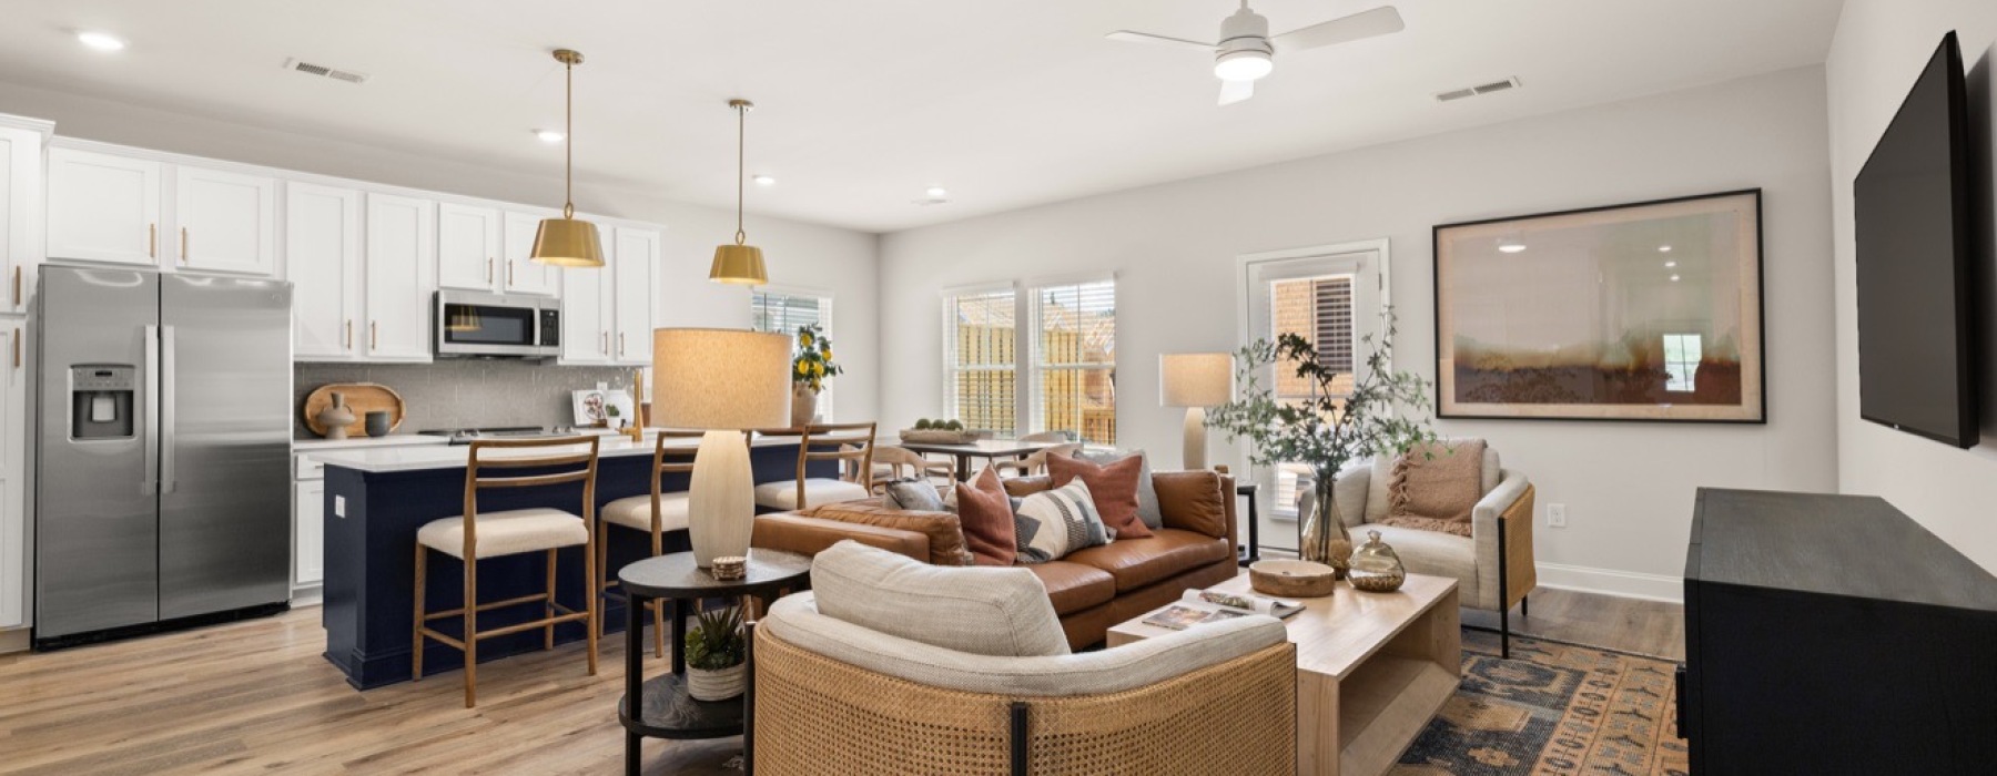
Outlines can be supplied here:
M1376 4L1254 8L1286 32ZM1102 40L1212 40L1228 0L0 0L0 80L559 174L529 130L561 124L567 46L579 180L733 205L745 96L749 168L777 178L753 213L893 231L1817 64L1843 2L1398 6L1406 32L1278 52L1230 108L1204 56ZM82 28L130 48L84 50ZM1508 76L1526 88L1432 98ZM951 203L913 203L933 184Z

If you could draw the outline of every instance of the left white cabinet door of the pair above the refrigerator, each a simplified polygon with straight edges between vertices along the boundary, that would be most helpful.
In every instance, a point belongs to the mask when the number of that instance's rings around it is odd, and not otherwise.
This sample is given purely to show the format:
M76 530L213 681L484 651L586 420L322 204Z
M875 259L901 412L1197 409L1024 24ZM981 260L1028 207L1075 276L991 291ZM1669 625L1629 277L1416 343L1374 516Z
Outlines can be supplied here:
M158 263L160 164L48 150L48 257Z

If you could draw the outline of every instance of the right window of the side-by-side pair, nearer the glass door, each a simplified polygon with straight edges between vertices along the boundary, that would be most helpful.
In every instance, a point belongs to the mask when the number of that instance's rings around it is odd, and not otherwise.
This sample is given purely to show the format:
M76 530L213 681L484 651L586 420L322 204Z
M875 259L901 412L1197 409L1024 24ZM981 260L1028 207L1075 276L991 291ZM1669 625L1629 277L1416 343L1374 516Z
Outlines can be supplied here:
M1116 445L1116 281L1034 287L1032 335L1034 427Z

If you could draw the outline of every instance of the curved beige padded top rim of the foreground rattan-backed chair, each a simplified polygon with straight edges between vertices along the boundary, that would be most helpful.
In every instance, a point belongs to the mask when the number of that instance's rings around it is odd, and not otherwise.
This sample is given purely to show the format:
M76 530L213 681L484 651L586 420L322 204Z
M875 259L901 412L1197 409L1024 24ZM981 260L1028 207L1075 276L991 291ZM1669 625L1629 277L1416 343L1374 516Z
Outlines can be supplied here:
M989 656L871 630L823 610L825 590L799 592L777 600L757 628L803 650L923 686L1034 698L1136 690L1288 638L1282 620L1250 614L1094 652Z

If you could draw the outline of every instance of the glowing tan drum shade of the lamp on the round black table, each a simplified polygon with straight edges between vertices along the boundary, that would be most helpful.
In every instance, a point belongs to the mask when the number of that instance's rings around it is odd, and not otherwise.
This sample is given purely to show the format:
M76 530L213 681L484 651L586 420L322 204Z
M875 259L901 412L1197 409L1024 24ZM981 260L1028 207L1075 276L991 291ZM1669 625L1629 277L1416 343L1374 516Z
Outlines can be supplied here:
M667 429L791 425L791 337L737 329L651 335L651 419Z

